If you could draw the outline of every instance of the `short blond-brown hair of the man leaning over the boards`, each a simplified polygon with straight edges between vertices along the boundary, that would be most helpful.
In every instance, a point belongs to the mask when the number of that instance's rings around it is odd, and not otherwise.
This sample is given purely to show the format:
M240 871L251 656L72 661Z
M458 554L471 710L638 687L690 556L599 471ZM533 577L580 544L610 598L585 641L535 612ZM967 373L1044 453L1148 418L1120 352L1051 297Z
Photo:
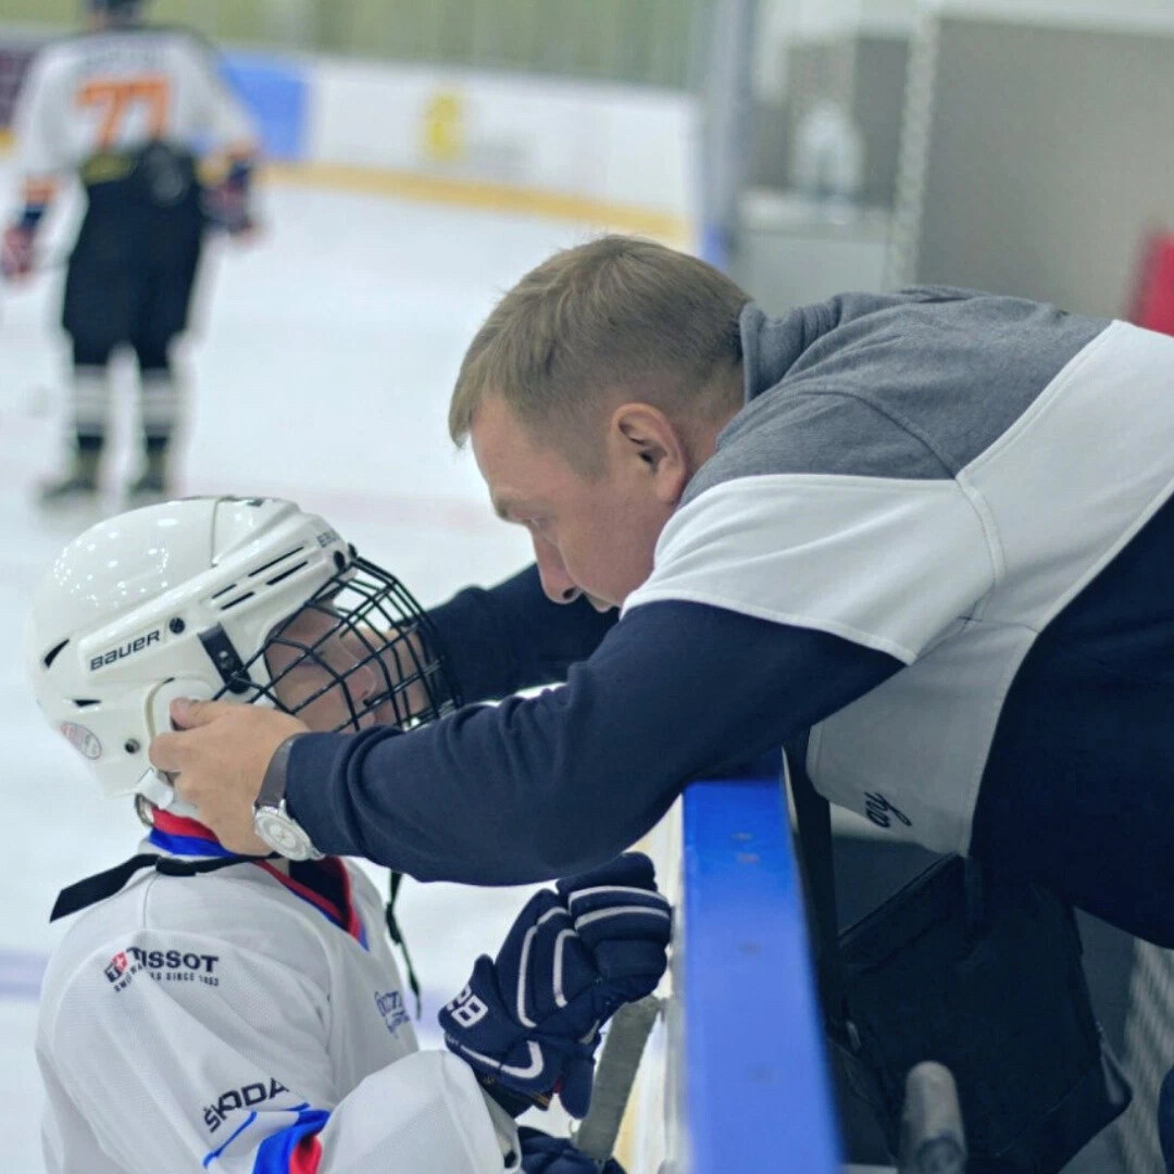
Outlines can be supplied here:
M738 315L749 297L711 265L664 245L605 236L564 249L500 302L465 353L448 432L468 437L486 396L598 467L598 420L640 399L672 419L714 421L741 404Z

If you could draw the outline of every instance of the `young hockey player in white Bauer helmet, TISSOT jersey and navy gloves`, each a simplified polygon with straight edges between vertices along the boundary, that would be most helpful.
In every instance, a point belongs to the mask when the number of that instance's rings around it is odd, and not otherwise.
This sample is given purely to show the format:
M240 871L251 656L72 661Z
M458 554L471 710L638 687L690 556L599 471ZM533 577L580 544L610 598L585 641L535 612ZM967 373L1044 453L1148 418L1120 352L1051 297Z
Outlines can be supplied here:
M398 581L290 502L149 506L66 547L27 661L46 716L150 828L54 910L76 917L38 1025L50 1174L594 1174L569 1142L519 1136L511 1113L558 1093L582 1115L601 1024L663 972L669 911L647 858L531 898L444 1010L452 1052L421 1052L366 877L301 845L264 797L258 815L301 858L230 853L147 762L181 694L318 730L452 709Z

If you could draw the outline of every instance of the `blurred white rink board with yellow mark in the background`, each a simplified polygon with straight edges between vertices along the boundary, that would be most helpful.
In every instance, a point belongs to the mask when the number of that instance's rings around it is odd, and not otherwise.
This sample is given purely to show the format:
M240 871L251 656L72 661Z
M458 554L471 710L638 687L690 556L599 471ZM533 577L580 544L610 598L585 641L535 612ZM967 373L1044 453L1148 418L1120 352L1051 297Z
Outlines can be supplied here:
M573 194L691 217L700 110L684 93L316 58L305 158ZM452 158L430 153L447 101Z

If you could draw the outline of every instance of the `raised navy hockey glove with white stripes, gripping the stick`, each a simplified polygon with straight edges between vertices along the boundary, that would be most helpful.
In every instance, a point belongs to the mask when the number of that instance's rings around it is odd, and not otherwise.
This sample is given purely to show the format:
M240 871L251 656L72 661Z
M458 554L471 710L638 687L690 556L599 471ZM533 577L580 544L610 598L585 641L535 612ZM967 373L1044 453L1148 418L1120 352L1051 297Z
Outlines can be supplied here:
M558 1093L572 1116L583 1116L599 1028L664 972L669 906L652 862L637 853L558 890L527 902L497 959L477 959L439 1019L448 1047L511 1112Z

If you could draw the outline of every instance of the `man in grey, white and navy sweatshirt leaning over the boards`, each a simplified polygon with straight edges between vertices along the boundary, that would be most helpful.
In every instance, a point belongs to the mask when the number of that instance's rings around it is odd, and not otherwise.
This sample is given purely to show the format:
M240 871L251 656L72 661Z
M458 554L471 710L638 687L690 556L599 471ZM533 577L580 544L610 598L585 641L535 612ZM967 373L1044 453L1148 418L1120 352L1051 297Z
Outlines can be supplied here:
M953 289L776 319L606 237L501 299L450 425L535 566L431 614L464 700L510 700L353 736L180 703L151 760L227 844L268 769L325 851L540 880L783 744L1174 946L1174 339Z

